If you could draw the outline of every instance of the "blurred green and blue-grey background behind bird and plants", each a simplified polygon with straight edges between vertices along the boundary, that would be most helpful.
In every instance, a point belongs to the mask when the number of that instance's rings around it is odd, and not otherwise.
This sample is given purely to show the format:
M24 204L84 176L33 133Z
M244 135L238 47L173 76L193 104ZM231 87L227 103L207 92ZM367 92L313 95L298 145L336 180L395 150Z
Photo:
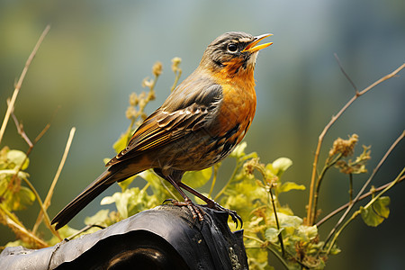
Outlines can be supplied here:
M58 109L51 128L31 154L28 172L44 198L58 168L69 130L75 126L66 166L49 208L54 216L103 171L112 143L127 129L124 117L131 92L140 92L157 60L164 73L157 83L156 109L169 93L174 76L170 59L183 58L184 79L198 65L205 47L225 31L274 33L274 45L257 60L257 116L247 134L247 151L262 162L290 157L284 180L309 185L313 152L320 131L354 90L341 74L337 53L358 88L373 83L405 60L405 4L387 1L0 1L0 115L26 58L50 23L51 30L31 64L15 114L33 139ZM405 71L361 97L333 126L321 160L337 137L357 133L372 145L369 170L383 157L405 123ZM25 150L11 121L0 147ZM405 160L402 142L374 185L392 181ZM361 147L358 146L358 152ZM226 167L232 165L225 162ZM222 172L223 178L229 175ZM366 177L355 178L356 188ZM321 188L320 207L328 213L347 202L347 179L331 174ZM110 188L105 194L118 190ZM400 269L405 264L403 184L395 187L391 215L377 229L356 220L338 241L343 252L330 257L327 269ZM69 225L82 228L85 216L101 208L97 198ZM281 197L297 215L305 214L308 189ZM31 227L37 204L22 211ZM336 220L321 227L322 236ZM31 225L32 224L32 225ZM14 239L0 227L0 244ZM272 257L275 260L275 258ZM276 265L277 266L277 265Z

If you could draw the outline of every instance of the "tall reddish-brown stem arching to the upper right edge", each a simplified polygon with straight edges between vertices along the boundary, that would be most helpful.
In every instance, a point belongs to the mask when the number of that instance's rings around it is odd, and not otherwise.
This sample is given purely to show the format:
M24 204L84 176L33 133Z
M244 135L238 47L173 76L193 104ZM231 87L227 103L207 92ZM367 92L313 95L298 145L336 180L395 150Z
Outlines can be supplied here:
M365 87L364 90L362 90L360 92L356 91L356 94L343 106L342 109L340 109L340 111L336 115L334 115L332 117L332 119L329 121L329 123L325 126L325 128L320 133L320 137L318 138L317 148L316 148L316 151L315 151L315 157L314 157L313 164L312 164L310 197L309 197L309 202L308 202L307 219L306 219L307 225L313 225L314 216L316 214L314 212L314 208L313 208L314 187L315 187L315 181L316 181L316 176L317 176L317 166L318 166L318 161L319 161L319 157L320 157L320 148L322 146L322 142L323 142L323 139L324 139L326 133L328 132L330 127L338 120L338 118L343 114L343 112L345 112L347 110L347 108L352 103L354 103L358 97L360 97L361 95L367 93L368 91L373 89L376 85L379 85L379 84L383 83L383 81L386 81L386 80L392 78L393 76L396 76L401 71L401 69L403 69L404 67L405 67L405 64L402 64L401 67L398 67L397 69L392 71L392 73L390 73L390 74L388 74L386 76L383 76L379 80L375 81L373 84L368 85L367 87Z

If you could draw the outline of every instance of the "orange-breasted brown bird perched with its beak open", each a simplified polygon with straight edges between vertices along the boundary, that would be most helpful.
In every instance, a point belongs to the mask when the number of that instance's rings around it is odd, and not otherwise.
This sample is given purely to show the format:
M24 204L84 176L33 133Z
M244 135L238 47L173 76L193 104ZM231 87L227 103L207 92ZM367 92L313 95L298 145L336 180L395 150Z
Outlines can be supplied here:
M213 40L199 66L139 125L127 147L105 165L103 174L51 220L55 229L66 225L113 183L148 169L175 187L184 202L174 203L187 206L194 220L203 220L203 212L183 189L208 207L228 211L234 221L240 220L235 211L223 208L181 180L186 171L220 162L245 137L257 106L257 54L273 44L258 43L271 35L229 31Z

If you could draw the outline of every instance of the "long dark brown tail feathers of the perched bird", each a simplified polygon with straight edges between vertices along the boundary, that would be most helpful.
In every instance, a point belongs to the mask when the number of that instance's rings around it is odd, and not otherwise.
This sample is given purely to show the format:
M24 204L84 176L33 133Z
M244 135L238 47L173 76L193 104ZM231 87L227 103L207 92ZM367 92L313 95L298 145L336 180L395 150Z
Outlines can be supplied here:
M121 181L122 176L116 167L111 166L106 169L102 175L98 176L92 184L89 184L85 190L80 193L75 200L69 202L64 209L58 212L50 224L56 224L55 229L60 229L67 224L68 221L73 219L76 214L81 211L85 206L94 200L96 196L103 193L115 181Z

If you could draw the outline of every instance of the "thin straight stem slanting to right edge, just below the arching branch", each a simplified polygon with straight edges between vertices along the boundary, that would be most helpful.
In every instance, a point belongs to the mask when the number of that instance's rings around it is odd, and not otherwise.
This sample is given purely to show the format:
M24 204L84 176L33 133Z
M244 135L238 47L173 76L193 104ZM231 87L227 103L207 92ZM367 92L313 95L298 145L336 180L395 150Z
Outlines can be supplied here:
M349 211L352 210L353 206L355 205L356 202L358 202L360 196L365 192L365 188L368 186L368 184L371 183L371 181L374 178L374 175L378 172L378 170L380 169L381 166L383 166L384 161L387 159L387 157L391 154L392 149L395 148L398 143L401 141L401 139L403 139L405 137L405 130L402 131L400 137L398 137L398 139L396 139L391 147L385 152L385 155L383 156L383 158L380 160L380 162L378 163L377 166L374 167L373 173L372 175L370 175L370 177L367 179L367 181L365 181L365 184L363 184L361 190L357 193L356 198L353 200L352 203L349 203L349 205L347 206L347 210L345 211L345 213L340 217L340 219L338 220L338 223L335 225L335 227L333 229L330 230L329 232L329 236L328 238L326 238L323 247L326 247L327 243L329 242L329 239L333 236L333 234L336 232L336 230L338 229L338 227L340 226L340 224L342 224L343 220L346 219L347 214Z

